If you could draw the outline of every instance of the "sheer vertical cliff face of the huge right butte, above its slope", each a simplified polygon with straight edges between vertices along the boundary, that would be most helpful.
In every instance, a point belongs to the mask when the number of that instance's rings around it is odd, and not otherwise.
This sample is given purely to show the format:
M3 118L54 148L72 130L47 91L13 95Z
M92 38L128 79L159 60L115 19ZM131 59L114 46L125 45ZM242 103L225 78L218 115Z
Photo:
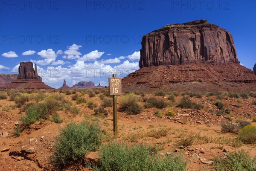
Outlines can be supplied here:
M142 39L140 68L196 62L238 63L232 35L207 20L166 25Z

